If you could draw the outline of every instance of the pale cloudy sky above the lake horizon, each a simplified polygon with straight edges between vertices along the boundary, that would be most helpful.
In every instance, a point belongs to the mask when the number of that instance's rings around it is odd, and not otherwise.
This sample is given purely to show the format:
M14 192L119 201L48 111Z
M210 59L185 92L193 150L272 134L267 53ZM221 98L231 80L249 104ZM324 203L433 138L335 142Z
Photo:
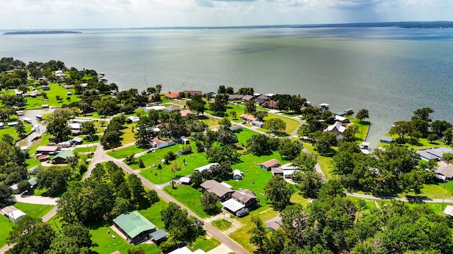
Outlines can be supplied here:
M453 20L452 0L0 0L0 29Z

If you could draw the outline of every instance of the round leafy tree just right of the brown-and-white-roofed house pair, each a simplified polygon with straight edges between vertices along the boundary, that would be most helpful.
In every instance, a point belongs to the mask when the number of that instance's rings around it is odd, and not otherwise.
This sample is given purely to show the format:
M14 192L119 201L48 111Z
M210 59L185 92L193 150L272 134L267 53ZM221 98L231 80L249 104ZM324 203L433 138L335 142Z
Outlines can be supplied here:
M281 176L273 176L265 185L264 191L271 205L277 211L281 211L291 204L290 198L293 190Z

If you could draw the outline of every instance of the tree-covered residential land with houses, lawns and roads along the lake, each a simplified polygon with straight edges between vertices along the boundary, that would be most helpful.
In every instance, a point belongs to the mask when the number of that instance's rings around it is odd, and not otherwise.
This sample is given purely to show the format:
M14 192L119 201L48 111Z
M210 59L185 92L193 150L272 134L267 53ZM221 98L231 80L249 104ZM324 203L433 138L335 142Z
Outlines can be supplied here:
M371 150L367 109L120 91L54 60L0 71L0 252L453 253L453 130L435 109Z

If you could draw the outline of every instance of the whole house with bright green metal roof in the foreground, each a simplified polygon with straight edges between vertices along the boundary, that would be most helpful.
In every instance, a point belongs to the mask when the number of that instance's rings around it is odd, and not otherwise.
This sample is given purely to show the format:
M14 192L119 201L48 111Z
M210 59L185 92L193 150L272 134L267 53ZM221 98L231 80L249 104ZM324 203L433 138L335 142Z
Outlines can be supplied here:
M113 223L127 237L127 243L140 243L156 231L156 226L139 212L127 212L113 219Z

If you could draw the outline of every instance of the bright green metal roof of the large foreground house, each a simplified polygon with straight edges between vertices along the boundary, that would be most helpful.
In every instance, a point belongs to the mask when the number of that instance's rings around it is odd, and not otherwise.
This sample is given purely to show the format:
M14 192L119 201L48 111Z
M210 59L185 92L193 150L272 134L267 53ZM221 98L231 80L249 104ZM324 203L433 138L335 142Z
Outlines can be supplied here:
M113 222L115 222L127 236L130 236L130 238L138 236L143 231L156 229L154 224L149 222L147 218L143 217L143 215L139 214L137 211L121 214L113 219Z

